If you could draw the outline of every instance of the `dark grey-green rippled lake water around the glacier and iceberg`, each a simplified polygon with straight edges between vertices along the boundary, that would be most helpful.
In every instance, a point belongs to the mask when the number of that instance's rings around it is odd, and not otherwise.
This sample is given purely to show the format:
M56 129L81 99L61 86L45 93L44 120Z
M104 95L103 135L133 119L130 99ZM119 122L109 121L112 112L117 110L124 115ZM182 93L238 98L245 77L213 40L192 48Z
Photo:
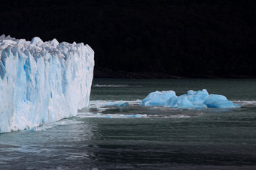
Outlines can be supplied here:
M203 88L242 107L139 106ZM0 169L256 169L256 79L94 79L78 116L0 134Z

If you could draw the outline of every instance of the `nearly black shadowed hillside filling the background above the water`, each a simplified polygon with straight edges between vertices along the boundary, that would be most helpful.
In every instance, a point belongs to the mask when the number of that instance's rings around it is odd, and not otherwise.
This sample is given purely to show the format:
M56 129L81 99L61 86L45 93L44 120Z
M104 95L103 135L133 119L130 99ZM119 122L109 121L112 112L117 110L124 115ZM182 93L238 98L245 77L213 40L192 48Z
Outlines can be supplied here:
M0 5L0 34L88 43L95 51L95 77L256 77L254 0Z

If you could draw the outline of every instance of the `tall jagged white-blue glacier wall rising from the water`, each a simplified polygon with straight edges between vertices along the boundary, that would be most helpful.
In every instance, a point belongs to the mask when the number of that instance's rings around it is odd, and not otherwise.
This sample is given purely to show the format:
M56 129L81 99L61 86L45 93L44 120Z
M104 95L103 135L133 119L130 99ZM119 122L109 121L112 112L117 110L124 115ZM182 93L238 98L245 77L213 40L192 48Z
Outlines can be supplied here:
M89 104L93 67L84 43L0 36L0 133L77 115Z

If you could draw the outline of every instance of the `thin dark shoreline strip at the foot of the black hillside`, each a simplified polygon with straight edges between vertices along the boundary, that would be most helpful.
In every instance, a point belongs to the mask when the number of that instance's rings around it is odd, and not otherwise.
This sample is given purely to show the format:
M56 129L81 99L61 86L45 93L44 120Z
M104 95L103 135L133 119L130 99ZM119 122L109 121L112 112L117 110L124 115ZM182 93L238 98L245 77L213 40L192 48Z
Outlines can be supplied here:
M135 73L125 71L112 71L112 70L94 70L94 78L121 78L121 79L256 79L256 76L245 75L189 75L179 76L167 73Z

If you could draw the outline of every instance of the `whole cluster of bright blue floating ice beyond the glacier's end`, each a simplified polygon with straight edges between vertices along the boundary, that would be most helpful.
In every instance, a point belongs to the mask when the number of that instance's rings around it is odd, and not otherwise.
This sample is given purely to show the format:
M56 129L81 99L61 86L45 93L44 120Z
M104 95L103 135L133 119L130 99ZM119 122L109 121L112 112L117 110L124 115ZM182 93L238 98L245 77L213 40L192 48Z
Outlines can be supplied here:
M142 106L167 106L172 108L238 108L238 104L227 100L227 97L202 91L187 91L187 94L176 96L175 91L155 91L148 94Z

